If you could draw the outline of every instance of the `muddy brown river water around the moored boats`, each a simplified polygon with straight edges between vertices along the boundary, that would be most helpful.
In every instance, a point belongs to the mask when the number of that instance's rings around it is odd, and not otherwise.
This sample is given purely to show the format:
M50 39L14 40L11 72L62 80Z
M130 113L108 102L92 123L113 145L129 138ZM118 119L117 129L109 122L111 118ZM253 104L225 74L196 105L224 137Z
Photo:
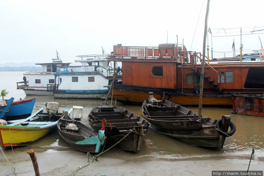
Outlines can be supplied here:
M0 72L1 85L0 89L6 89L9 94L5 99L14 97L15 100L20 98L29 99L36 97L33 112L41 107L45 109L45 102L56 101L59 103L60 111L70 109L72 106L83 106L82 123L88 125L87 117L93 106L99 106L101 100L90 99L54 99L53 96L26 96L23 90L16 89L16 82L23 81L23 72ZM109 99L108 103L111 102ZM117 106L140 114L140 105L123 105L117 103ZM197 106L185 106L194 111L198 111ZM240 114L229 114L232 107L203 107L202 113L214 119L220 119L222 115L231 115L231 121L236 125L236 132L232 137L226 138L224 147L221 149L202 148L188 145L159 134L152 129L145 136L145 142L141 150L137 153L131 153L112 148L104 154L105 157L129 159L136 161L153 160L153 159L250 159L252 148L255 149L254 158L264 160L264 117L247 116ZM35 141L31 146L23 148L29 149L32 147L41 148L43 152L52 150L74 150L69 148L59 134L55 131L45 136L44 138Z

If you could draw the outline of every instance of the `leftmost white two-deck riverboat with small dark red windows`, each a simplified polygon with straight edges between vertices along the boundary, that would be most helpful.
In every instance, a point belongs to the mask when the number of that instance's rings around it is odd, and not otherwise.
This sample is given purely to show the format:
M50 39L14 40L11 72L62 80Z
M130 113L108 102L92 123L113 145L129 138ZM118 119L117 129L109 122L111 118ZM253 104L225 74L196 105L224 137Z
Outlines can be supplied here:
M57 84L60 82L59 78L54 78L57 67L66 67L72 62L63 62L60 57L52 59L52 62L48 63L36 63L43 67L42 72L26 72L24 73L24 81L17 82L17 89L23 89L26 95L49 95L52 96L52 92L47 92L47 84Z

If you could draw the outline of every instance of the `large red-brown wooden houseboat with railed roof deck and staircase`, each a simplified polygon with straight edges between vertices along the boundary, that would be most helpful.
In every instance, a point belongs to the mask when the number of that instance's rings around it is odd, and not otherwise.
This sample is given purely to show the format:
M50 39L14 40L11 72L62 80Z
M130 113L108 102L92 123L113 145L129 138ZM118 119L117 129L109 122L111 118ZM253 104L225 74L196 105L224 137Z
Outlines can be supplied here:
M141 104L148 92L160 99L175 99L177 104L198 104L201 53L187 51L175 44L158 47L114 45L107 60L122 62L122 82L114 85L113 99ZM264 61L206 62L204 67L203 104L232 105L234 93L264 92Z

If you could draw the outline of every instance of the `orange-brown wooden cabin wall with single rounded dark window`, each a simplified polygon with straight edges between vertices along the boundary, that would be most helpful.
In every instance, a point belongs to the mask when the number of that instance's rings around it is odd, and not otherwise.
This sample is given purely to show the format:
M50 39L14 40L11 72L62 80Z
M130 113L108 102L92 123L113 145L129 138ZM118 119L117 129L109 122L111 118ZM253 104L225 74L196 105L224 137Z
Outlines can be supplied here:
M122 62L123 84L176 88L176 63Z

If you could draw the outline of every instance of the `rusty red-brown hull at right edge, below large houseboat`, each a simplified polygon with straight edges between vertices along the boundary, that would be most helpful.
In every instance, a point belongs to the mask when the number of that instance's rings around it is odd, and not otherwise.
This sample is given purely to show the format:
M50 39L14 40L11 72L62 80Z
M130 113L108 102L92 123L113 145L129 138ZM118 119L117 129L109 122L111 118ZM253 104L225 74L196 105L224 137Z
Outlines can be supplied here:
M263 94L232 95L233 111L238 114L264 116Z

